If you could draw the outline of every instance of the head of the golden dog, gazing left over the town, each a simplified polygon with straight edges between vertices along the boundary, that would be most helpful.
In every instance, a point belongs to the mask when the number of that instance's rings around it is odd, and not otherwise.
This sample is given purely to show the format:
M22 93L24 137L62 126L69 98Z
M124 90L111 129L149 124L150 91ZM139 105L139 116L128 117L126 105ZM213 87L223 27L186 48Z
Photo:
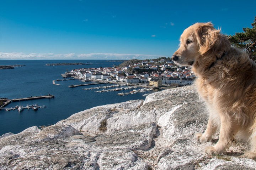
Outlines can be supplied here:
M209 22L196 23L184 30L180 47L171 58L176 64L187 66L193 65L199 58L216 60L216 57L220 58L229 49L230 42L220 33L220 29L215 29Z

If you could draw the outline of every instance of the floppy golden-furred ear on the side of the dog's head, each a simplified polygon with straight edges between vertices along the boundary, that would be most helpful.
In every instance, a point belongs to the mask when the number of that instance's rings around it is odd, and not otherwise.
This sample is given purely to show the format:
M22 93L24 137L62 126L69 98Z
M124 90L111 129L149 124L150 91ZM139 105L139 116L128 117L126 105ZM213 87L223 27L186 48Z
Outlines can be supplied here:
M210 22L198 24L195 34L201 55L220 57L231 47L227 36L220 33L220 29L215 29Z

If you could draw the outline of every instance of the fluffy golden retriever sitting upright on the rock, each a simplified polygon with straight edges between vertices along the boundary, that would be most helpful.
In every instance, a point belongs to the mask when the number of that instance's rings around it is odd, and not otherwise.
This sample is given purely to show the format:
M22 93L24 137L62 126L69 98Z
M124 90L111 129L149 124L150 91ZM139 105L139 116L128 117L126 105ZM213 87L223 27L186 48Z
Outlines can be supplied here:
M220 130L216 145L205 146L205 152L225 153L237 137L251 147L244 156L255 160L256 64L245 52L231 47L228 37L212 23L196 23L185 29L172 60L192 66L198 77L198 94L209 111L206 131L195 137L204 143Z

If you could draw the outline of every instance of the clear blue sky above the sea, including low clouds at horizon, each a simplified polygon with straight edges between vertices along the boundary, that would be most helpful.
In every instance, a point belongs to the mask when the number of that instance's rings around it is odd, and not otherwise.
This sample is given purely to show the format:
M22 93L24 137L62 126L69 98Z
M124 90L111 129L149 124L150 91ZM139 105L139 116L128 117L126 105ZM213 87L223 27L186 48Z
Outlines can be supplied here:
M249 3L249 1L247 1ZM183 30L242 32L256 1L0 0L0 60L171 57Z

